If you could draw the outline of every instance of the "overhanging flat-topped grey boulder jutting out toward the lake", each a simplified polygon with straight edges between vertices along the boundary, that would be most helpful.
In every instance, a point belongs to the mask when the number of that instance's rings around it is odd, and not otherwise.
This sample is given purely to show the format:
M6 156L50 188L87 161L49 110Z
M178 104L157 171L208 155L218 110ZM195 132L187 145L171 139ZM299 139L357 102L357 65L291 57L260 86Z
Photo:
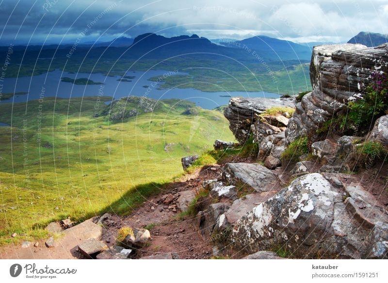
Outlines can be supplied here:
M229 120L229 129L236 139L244 144L250 135L251 125L257 119L257 114L271 107L295 107L295 99L233 97L224 110L224 116Z

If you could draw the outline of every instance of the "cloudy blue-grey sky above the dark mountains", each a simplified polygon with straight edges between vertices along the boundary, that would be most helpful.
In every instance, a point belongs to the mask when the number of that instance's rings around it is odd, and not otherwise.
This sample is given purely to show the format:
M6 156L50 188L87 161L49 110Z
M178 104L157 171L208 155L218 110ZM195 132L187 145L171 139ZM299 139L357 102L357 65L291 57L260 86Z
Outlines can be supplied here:
M154 32L347 42L388 34L387 0L0 0L0 44L110 41Z

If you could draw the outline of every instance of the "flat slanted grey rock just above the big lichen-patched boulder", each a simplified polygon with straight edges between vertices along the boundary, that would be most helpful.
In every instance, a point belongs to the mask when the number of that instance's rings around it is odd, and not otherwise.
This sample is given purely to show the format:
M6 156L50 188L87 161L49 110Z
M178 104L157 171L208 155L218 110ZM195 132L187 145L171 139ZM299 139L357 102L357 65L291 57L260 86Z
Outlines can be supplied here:
M257 163L227 163L222 179L230 185L247 185L257 192L271 191L277 180L275 173Z

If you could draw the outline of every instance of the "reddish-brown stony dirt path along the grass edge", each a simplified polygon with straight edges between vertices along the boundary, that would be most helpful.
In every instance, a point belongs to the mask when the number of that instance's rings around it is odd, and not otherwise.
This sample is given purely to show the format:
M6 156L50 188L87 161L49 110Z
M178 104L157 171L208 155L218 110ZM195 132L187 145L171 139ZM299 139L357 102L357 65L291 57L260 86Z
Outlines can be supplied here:
M210 258L212 245L209 241L203 241L198 232L194 229L194 219L180 219L178 212L171 209L163 209L156 200L164 194L176 194L183 191L195 190L202 186L202 181L216 179L219 177L220 167L207 167L192 174L185 175L178 182L171 183L167 189L157 196L153 196L144 202L144 205L132 211L124 217L111 215L104 220L103 226L99 226L102 233L102 240L108 245L115 244L118 230L122 226L143 228L152 224L149 228L152 240L147 247L137 251L136 257L155 255L158 253L174 252L179 258ZM151 209L154 207L154 210ZM86 222L97 223L99 217L92 218ZM77 225L80 226L80 225ZM77 227L75 226L75 227ZM75 228L73 227L73 228ZM70 229L73 229L70 228ZM66 232L70 229L65 230ZM86 228L88 229L88 228ZM89 234L81 235L71 231L63 238L57 240L54 248L47 248L45 240L40 240L37 247L35 242L27 248L21 245L8 245L0 248L2 259L76 259L83 258L78 252L78 245L89 237Z

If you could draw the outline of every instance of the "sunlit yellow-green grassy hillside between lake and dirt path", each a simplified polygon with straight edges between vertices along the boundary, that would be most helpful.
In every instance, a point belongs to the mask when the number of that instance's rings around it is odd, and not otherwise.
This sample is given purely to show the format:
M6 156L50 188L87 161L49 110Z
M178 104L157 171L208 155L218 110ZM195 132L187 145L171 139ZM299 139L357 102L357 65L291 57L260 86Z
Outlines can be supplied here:
M211 149L217 138L234 139L219 111L183 115L194 104L171 99L153 112L112 120L115 109L103 103L111 99L0 105L0 121L12 125L0 127L0 236L9 241L9 233L28 234L34 223L111 205L129 210L124 198L136 185L170 179L183 172L180 157Z

